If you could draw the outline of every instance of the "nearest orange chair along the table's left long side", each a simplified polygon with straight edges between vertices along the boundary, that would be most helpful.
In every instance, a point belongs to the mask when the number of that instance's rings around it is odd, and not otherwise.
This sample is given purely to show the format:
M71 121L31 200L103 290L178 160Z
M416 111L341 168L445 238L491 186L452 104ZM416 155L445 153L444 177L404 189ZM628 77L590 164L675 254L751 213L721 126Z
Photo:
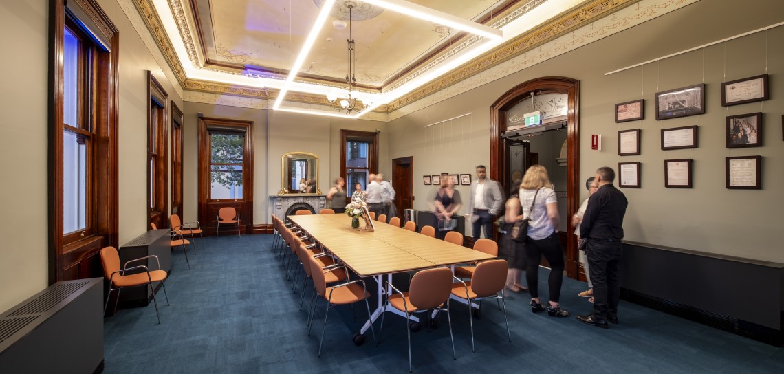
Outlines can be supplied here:
M368 309L368 318L371 316L370 304L368 304L368 297L370 297L370 294L368 293L367 287L365 287L365 281L358 279L356 281L347 281L346 283L327 287L325 273L338 269L343 269L343 271L348 274L348 270L342 265L333 265L332 267L321 269L321 264L313 257L310 257L310 275L313 277L314 288L316 289L318 296L321 296L321 298L327 301L327 310L324 314L324 325L321 327L321 343L318 343L318 357L321 357L321 346L324 345L324 332L326 332L327 317L329 316L329 309L331 307L358 303L365 300L365 307ZM311 307L310 310L311 323L310 327L307 328L308 336L310 336L310 329L313 328L312 318L315 317L315 310L316 302L314 300L313 307ZM376 342L376 331L373 329L373 324L370 324L370 331L373 333L373 343L378 344Z

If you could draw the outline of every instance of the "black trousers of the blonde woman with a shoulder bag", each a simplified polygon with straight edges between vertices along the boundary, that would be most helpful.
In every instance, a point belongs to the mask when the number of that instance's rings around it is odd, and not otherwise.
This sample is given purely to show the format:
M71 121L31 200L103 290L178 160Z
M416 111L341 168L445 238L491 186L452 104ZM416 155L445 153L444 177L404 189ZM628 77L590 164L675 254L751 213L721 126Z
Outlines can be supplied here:
M532 299L539 297L539 262L543 255L550 263L550 277L547 278L550 301L557 303L561 299L561 283L564 281L564 252L557 233L554 232L541 240L534 240L531 237L525 240L525 257L528 263L525 281L528 282L528 292L531 292Z

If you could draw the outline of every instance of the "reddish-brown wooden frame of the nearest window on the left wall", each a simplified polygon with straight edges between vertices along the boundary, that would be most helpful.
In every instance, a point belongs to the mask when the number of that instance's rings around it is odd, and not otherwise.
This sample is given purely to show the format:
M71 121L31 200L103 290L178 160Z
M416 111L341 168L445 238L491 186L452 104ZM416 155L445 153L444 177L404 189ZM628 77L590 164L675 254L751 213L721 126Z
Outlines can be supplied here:
M76 278L102 276L98 251L107 245L118 246L118 62L119 34L106 13L95 0L49 1L49 284ZM77 16L78 15L78 16ZM78 18L78 22L74 20ZM95 52L89 57L89 79L82 89L78 105L85 129L64 124L64 30L68 26L80 33L87 31L80 24L89 24ZM83 61L87 64L89 61ZM84 74L85 67L80 69ZM82 77L85 78L85 77ZM82 127L82 126L80 126ZM92 133L92 149L88 152L85 225L89 231L77 231L78 240L63 233L64 224L64 131L82 135ZM100 154L100 157L96 155ZM82 236L82 234L84 234Z

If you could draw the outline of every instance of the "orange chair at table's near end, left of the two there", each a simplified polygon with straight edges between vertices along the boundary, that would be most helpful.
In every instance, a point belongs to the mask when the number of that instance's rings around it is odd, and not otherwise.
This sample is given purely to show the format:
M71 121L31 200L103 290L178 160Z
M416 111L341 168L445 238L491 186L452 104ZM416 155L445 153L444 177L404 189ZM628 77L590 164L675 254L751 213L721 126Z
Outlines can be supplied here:
M506 274L506 273L505 273ZM457 359L455 354L455 338L452 336L452 318L449 317L449 294L452 291L452 271L448 267L437 267L426 269L414 274L408 292L400 292L389 281L386 282L387 289L391 289L391 295L387 294L387 307L394 307L405 312L405 327L408 332L408 372L411 367L411 329L408 328L408 319L411 314L416 312L428 312L431 309L446 311L447 321L449 321L449 337L452 339L452 357ZM390 292L391 293L391 292ZM446 307L444 307L446 304ZM384 315L381 316L381 327L379 336L384 328Z

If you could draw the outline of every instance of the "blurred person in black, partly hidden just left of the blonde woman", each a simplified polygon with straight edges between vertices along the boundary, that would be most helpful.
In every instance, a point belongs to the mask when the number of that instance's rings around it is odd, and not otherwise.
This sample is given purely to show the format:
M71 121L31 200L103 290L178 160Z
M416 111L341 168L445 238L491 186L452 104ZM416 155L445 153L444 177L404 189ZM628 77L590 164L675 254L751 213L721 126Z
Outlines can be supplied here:
M526 267L525 246L512 240L510 236L514 223L523 219L520 198L517 197L518 187L520 187L519 184L514 187L509 199L506 200L506 211L503 215L504 227L501 227L503 238L501 239L500 253L501 257L509 264L509 270L506 271L506 289L511 292L528 291L527 288L521 285L522 274Z

